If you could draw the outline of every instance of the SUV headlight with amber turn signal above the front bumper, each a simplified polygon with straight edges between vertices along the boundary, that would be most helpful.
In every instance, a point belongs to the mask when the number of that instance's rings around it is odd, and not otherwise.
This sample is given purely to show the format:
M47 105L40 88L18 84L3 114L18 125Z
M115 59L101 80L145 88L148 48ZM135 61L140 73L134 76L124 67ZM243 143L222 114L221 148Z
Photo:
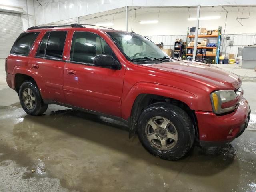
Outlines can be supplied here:
M222 108L223 103L236 99L236 93L234 91L214 91L211 93L212 110L216 114L226 113L236 108L236 105Z

